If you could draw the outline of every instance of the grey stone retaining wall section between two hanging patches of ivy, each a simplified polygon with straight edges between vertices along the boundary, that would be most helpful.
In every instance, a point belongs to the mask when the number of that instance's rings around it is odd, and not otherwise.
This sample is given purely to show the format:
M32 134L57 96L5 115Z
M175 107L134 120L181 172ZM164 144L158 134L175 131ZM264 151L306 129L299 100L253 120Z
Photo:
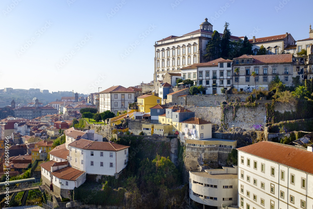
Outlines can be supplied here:
M265 104L259 104L256 107L240 107L236 112L236 118L233 120L232 111L227 111L225 121L227 128L240 127L246 130L254 130L253 125L262 124L265 127L264 116L266 117Z

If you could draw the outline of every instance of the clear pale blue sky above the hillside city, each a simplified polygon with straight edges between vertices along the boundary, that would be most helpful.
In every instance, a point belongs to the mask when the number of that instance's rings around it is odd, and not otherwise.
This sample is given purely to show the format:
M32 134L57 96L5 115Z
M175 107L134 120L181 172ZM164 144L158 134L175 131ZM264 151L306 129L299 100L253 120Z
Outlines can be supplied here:
M0 89L94 93L153 80L155 41L199 29L309 37L312 0L1 0ZM299 18L301 17L301 18ZM101 87L98 89L98 87Z

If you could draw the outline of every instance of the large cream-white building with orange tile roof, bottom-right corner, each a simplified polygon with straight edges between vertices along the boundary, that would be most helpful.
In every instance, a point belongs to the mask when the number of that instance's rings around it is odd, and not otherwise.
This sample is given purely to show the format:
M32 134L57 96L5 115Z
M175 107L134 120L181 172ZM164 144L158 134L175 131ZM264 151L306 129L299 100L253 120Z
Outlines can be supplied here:
M312 151L269 141L237 150L240 208L312 208Z

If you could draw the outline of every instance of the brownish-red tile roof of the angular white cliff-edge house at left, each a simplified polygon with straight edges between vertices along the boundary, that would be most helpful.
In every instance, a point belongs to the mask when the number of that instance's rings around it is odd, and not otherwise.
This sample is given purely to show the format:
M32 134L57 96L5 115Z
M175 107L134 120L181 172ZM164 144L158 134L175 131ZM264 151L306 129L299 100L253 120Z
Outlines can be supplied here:
M96 142L86 139L79 139L69 146L79 148L79 149L91 149L91 150L107 150L107 151L119 151L122 149L129 148L130 146L125 146L121 144L111 143L111 142Z

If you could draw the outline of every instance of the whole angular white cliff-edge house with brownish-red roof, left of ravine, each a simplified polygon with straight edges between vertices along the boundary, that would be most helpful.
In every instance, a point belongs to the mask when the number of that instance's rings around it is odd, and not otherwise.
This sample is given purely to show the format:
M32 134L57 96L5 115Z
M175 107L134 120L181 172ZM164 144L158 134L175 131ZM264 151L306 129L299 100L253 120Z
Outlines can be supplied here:
M129 146L80 139L69 144L69 163L87 174L116 175L128 162Z

